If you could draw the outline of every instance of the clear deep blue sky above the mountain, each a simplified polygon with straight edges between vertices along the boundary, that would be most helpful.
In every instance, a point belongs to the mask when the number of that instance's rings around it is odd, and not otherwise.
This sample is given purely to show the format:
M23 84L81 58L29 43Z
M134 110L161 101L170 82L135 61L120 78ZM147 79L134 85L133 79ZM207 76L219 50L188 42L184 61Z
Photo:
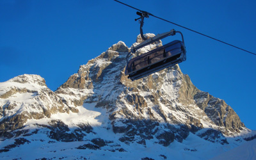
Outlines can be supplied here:
M256 1L122 0L205 35L256 52ZM112 0L0 0L0 82L38 74L56 90L80 65L140 33L136 10ZM195 86L224 99L256 129L256 56L150 17L144 33L182 31L187 61L180 64ZM172 38L166 38L167 43Z

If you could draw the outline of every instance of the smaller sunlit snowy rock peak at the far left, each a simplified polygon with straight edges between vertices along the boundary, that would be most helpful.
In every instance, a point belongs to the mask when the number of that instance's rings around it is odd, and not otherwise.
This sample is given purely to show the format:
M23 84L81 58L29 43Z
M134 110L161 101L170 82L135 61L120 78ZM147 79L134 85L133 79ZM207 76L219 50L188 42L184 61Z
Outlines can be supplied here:
M29 119L69 110L40 76L24 74L0 83L0 136L13 136L10 131L21 129Z

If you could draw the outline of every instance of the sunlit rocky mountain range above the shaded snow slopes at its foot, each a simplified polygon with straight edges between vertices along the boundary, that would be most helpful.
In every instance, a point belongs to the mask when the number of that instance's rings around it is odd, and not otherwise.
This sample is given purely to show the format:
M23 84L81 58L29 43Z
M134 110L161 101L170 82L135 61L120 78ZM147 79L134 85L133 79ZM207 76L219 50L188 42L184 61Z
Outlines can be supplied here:
M133 45L139 42L140 36ZM155 42L136 55L161 45ZM81 65L56 92L36 75L0 83L1 140L44 134L49 141L90 141L78 149L112 146L124 151L120 144L168 147L192 134L228 145L230 137L244 141L241 135L251 132L224 100L198 90L179 65L136 81L127 79L127 52L124 42L109 47ZM106 132L115 136L106 137ZM12 148L2 147L1 152Z

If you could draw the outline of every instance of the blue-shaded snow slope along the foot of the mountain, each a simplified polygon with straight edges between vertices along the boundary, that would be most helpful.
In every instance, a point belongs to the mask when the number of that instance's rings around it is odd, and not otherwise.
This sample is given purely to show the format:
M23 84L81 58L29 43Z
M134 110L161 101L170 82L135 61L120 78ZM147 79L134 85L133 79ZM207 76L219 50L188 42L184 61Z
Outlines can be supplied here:
M183 143L174 141L163 147L152 141L146 141L147 147L138 143L126 145L118 141L119 135L108 129L97 127L97 134L89 134L88 139L104 138L108 145L100 148L83 148L91 141L60 142L48 138L43 132L28 136L29 142L12 148L9 152L0 153L0 159L256 159L256 140L230 150L230 145L211 143L194 134L189 134ZM1 146L13 143L14 140L1 141ZM80 147L80 148L79 148ZM227 152L227 150L229 150ZM216 156L217 155L217 156ZM219 155L219 156L218 156ZM216 157L215 157L216 156Z

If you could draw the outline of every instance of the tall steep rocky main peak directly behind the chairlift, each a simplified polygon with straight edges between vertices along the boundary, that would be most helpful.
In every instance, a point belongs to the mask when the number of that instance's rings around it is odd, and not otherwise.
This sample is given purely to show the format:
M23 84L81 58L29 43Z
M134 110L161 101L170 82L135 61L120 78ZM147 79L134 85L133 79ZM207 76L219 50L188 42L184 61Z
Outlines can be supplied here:
M154 35L146 36L149 38ZM138 35L133 46L141 40ZM161 41L150 44L136 51L134 56L161 45ZM161 140L157 143L169 145L173 140L182 142L189 132L196 133L204 128L212 130L205 129L207 133L198 136L214 132L223 140L224 135L235 135L246 130L239 116L223 100L214 101L216 98L211 95L205 99L205 92L193 85L189 76L181 72L179 65L136 81L127 79L124 75L127 52L129 48L123 42L109 47L106 52L82 65L77 74L70 76L56 93L61 93L65 101L76 106L83 105L86 108L93 104L95 108L107 109L113 131L124 134L120 140L125 143L137 141L134 137L141 136L141 132L148 135L148 140L157 135L158 140ZM74 95L76 99L64 95ZM139 129L145 124L152 125L152 131ZM176 125L180 126L179 129L173 127ZM158 126L166 131L158 132ZM171 139L166 136L173 134L179 136Z

